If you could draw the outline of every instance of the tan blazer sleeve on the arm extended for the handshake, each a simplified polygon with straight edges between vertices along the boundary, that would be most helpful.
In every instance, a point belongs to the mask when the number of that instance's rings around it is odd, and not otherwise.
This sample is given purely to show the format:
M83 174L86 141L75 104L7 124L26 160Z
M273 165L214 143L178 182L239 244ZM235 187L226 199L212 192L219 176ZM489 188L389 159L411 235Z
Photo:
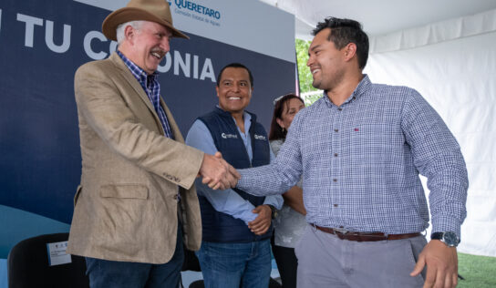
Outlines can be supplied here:
M110 149L145 170L191 188L202 165L203 152L140 123L122 98L115 78L109 77L119 73L116 69L102 61L78 68L74 86L79 113Z

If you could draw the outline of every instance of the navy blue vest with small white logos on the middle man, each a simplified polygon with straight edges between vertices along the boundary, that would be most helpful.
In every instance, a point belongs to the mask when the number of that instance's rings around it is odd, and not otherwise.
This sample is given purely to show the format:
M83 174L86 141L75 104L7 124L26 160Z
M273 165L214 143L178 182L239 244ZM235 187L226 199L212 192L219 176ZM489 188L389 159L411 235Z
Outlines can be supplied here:
M235 169L244 169L263 166L270 163L270 146L267 133L256 116L252 116L250 138L252 140L253 159L250 158L244 147L243 139L234 123L231 113L215 108L198 119L202 120L210 130L215 147L222 153L222 158L233 165ZM257 207L263 204L265 197L257 197L234 189L244 200L250 201ZM202 240L206 242L253 242L267 239L272 235L273 227L263 235L255 235L244 221L213 209L212 204L202 195L199 195L202 212Z

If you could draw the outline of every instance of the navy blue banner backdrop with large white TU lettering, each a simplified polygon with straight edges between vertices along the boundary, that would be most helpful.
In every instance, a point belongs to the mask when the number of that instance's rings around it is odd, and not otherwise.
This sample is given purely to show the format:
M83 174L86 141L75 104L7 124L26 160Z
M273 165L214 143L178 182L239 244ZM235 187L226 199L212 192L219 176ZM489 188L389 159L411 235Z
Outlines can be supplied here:
M100 32L107 15L67 0L0 4L0 205L70 223L81 169L73 78L81 64L115 50ZM182 133L217 104L217 73L231 62L252 70L248 109L268 129L273 99L294 91L294 63L188 35L171 41L159 69L162 97Z

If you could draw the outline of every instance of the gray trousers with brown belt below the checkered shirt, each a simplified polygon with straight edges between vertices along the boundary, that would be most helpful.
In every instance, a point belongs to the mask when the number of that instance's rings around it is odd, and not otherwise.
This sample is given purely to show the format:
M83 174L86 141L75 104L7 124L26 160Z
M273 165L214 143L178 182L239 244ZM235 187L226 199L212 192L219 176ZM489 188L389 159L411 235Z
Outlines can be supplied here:
M409 273L427 241L409 239L355 242L316 230L308 225L295 247L298 288L422 287L424 272Z

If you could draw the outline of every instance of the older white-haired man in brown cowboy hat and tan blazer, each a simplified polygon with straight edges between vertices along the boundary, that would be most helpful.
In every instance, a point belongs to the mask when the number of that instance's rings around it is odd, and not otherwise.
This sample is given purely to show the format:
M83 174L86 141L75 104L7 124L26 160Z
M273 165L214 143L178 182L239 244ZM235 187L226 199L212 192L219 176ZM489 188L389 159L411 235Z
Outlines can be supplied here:
M177 287L182 242L201 244L195 178L225 188L239 177L220 155L183 144L155 70L171 37L164 0L131 0L103 22L119 42L109 59L78 68L82 156L67 252L87 257L91 287Z

